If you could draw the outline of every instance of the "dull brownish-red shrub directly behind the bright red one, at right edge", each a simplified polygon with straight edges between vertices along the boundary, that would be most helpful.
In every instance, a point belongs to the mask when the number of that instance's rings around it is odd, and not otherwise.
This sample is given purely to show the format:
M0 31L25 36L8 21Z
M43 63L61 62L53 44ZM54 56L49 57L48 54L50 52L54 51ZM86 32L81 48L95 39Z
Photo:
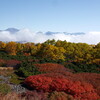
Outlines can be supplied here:
M59 77L59 78L67 78L72 81L80 81L81 83L89 83L92 84L96 89L98 95L100 95L100 74L97 73L77 73L73 74L71 72L62 71L60 73L49 73L46 74L49 77ZM87 86L87 85L86 85Z

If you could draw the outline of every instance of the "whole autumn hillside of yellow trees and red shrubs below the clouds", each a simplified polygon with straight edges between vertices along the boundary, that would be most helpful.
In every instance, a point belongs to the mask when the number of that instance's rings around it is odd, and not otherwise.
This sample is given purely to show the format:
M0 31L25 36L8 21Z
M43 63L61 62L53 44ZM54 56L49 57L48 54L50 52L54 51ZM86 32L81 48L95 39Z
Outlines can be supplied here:
M4 77L10 78L5 82ZM3 82L8 90L2 88ZM14 92L16 100L99 100L99 83L100 43L0 41L2 100ZM14 91L11 84L25 91Z

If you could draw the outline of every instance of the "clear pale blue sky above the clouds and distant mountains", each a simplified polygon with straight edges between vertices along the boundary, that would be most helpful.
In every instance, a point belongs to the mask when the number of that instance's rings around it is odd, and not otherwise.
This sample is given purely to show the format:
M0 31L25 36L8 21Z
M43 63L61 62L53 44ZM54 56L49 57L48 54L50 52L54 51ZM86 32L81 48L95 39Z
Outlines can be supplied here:
M100 31L100 0L0 0L0 29Z

